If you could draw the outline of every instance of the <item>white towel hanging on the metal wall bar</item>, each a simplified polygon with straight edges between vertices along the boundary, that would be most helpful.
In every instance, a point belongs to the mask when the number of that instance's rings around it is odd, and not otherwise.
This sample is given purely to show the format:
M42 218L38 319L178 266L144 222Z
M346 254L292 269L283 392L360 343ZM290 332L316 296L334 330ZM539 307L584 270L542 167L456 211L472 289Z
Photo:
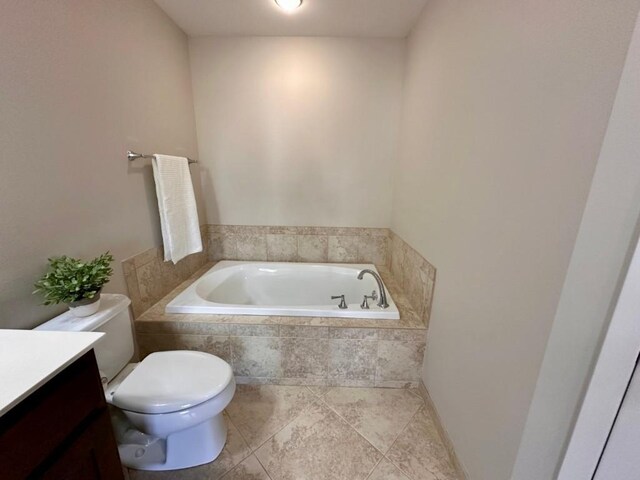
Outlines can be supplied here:
M160 210L164 261L171 260L175 264L187 255L202 251L189 160L156 154L152 165Z

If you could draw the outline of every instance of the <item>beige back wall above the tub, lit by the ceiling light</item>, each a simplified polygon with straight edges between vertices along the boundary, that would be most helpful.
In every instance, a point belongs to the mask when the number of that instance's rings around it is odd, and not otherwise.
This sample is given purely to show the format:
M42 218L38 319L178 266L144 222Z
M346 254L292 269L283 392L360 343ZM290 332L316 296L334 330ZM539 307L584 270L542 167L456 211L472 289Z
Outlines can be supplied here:
M388 227L403 40L190 40L209 223Z

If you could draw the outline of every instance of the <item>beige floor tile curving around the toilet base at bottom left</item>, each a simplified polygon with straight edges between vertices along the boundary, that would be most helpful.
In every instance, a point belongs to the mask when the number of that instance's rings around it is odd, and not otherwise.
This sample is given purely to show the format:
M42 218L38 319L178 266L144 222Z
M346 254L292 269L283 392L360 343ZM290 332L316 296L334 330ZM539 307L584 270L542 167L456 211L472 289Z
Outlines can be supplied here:
M229 427L227 444L213 462L200 467L165 472L129 470L131 480L217 480L221 478L251 453L238 429L229 422L228 418L226 420Z

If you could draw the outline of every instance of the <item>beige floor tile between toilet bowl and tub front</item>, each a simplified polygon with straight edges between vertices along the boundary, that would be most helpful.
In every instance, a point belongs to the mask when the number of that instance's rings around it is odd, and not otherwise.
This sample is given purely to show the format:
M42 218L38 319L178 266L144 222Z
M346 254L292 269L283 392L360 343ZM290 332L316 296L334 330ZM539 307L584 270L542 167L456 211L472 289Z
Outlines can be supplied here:
M238 385L227 413L255 449L315 400L307 387Z

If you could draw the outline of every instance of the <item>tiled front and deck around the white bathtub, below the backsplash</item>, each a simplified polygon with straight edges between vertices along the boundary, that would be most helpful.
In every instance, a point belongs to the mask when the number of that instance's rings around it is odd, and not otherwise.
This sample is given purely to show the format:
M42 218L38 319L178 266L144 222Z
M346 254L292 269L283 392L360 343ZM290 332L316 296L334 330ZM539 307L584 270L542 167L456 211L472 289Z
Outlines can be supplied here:
M213 353L231 364L238 383L418 385L426 326L385 267L379 271L400 320L165 313L165 305L208 268L136 320L141 356L173 349Z

